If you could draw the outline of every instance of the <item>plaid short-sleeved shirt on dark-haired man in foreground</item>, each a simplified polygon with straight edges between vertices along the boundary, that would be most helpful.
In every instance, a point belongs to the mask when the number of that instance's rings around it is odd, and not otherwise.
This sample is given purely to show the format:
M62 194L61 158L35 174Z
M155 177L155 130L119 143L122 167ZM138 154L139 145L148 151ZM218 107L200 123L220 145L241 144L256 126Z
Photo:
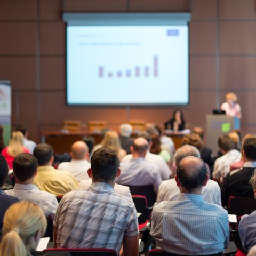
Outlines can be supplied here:
M58 229L57 246L67 248L98 247L119 253L124 236L139 234L133 202L104 182L63 196L53 225Z

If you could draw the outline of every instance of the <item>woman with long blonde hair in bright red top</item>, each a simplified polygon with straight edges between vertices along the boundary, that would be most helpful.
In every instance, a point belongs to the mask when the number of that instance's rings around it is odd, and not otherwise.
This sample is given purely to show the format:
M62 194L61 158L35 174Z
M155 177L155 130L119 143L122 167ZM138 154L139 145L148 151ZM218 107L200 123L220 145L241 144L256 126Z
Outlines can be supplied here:
M2 150L2 155L7 161L10 169L13 167L14 158L20 153L30 153L24 146L24 136L21 132L12 132L12 138L9 145Z

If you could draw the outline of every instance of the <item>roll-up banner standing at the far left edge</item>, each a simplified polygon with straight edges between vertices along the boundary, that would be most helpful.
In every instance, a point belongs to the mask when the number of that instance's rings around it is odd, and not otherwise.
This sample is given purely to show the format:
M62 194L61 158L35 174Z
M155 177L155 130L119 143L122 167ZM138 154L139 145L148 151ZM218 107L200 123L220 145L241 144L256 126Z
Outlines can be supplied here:
M4 128L4 144L7 146L11 137L11 81L0 80L0 125Z

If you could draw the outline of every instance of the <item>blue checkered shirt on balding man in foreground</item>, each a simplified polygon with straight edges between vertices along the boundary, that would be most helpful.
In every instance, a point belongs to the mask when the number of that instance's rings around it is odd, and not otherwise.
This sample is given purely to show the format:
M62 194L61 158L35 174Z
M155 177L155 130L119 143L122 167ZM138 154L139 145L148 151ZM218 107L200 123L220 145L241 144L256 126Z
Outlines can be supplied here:
M201 195L179 195L178 201L154 206L150 235L157 248L180 255L222 252L229 241L228 212Z

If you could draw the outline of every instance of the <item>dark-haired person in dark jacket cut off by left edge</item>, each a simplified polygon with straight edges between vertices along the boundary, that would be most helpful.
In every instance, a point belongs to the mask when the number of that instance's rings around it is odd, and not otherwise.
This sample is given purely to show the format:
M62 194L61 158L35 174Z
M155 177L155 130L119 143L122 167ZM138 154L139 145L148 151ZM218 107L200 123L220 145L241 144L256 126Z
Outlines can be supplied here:
M0 155L0 230L3 227L3 219L6 210L10 205L19 201L17 197L8 196L2 188L5 178L8 175L8 165L5 158Z

